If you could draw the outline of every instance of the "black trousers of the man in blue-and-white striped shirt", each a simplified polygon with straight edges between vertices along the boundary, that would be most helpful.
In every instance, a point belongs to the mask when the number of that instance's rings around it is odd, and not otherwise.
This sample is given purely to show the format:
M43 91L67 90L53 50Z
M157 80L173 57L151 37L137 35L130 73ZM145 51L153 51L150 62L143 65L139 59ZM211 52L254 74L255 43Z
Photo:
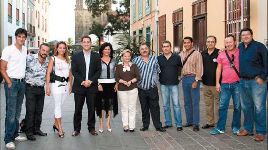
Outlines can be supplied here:
M139 102L142 110L143 126L149 127L151 112L154 127L160 128L162 126L162 123L160 122L160 107L157 87L149 90L138 88L138 90Z

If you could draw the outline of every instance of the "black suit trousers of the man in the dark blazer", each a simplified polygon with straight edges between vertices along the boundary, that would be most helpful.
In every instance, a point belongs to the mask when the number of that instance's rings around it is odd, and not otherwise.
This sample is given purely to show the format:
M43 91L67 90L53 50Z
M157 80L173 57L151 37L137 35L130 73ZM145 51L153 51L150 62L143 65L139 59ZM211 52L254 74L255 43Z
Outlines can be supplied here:
M73 116L73 127L75 131L81 130L81 121L82 121L82 109L85 103L86 98L86 105L88 110L87 115L87 128L90 132L91 130L95 130L95 99L96 94L74 94L74 102L75 102L75 111Z

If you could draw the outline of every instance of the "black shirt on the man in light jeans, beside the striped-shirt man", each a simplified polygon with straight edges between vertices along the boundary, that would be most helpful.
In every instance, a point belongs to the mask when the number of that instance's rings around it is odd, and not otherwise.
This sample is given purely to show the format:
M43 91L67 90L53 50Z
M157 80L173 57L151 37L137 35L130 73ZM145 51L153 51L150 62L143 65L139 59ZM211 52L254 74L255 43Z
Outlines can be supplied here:
M179 70L181 70L181 57L177 54L171 54L167 59L164 54L157 57L160 65L161 73L159 74L159 82L162 85L178 85Z

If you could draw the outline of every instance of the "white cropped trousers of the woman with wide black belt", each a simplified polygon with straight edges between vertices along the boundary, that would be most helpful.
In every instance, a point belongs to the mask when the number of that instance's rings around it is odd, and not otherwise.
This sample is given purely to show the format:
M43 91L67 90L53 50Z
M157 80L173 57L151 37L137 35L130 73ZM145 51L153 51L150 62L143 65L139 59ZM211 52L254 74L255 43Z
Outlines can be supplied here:
M52 94L52 95L53 95L54 102L55 102L55 110L54 110L55 118L61 118L62 117L62 105L68 93Z

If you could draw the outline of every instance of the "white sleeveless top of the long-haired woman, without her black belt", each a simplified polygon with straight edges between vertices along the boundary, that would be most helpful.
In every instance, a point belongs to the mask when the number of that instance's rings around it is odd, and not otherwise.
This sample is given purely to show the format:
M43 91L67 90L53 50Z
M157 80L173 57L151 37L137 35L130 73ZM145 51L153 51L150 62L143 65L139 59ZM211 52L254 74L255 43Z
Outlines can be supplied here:
M69 77L71 65L69 65L66 60L61 60L55 57L55 74L60 77ZM53 58L52 58L53 59ZM52 94L64 94L69 92L69 81L68 82L59 82L55 81L55 83L50 83L51 93Z

